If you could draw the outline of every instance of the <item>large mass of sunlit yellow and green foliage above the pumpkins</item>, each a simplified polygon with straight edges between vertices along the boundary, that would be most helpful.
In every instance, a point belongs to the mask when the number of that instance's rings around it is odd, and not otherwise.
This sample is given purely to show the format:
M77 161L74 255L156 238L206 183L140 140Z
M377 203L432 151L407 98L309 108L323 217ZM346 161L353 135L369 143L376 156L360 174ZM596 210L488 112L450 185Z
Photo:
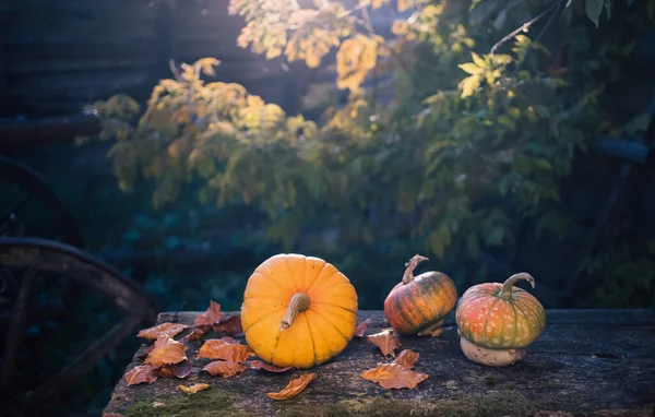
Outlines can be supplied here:
M610 16L610 1L586 0L556 19L575 58L567 68L539 34L521 33L507 52L485 53L489 34L473 23L483 3L504 13L499 31L524 24L521 13L508 16L504 2L400 1L412 14L386 39L368 14L385 3L346 10L330 1L302 9L294 0L275 8L231 0L229 12L246 19L238 44L254 53L314 68L335 49L336 87L349 91L347 103L306 120L241 85L206 82L216 60L184 63L154 88L138 119L127 97L96 104L100 139L115 141L119 187L154 180L157 207L176 202L186 184L203 203L254 205L269 217L266 239L285 250L308 233L335 231L342 245L365 246L402 236L453 274L472 273L466 261L512 242L520 219L534 219L537 237L564 237L560 183L575 152L603 129L623 129L604 122L598 97L603 78L621 76L612 57L630 55L629 43L612 38L595 56L586 28L571 23L586 13L597 25L603 10Z

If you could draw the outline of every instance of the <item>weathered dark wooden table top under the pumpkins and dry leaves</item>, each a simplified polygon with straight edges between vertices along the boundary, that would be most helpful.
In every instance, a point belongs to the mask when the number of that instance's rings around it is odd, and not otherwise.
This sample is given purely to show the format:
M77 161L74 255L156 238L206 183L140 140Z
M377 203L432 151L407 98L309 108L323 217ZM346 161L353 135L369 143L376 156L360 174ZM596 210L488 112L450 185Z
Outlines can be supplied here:
M198 312L165 312L158 322L192 324ZM388 327L381 311L367 334ZM212 337L210 334L206 337ZM206 338L205 337L205 338ZM270 373L248 369L229 379L202 372L193 381L159 379L127 386L121 380L105 416L654 416L655 313L652 310L549 310L544 335L525 359L509 368L468 361L460 350L453 314L440 337L401 337L402 348L420 354L416 370L429 378L414 390L384 390L360 373L384 359L366 338L356 337L344 353L317 367L318 379L298 396L273 401L308 371ZM201 341L189 342L189 358ZM128 367L140 365L138 357ZM193 361L192 377L207 362ZM180 383L205 382L206 391L183 395ZM156 407L153 407L153 403ZM163 404L163 405L162 405ZM545 410L559 414L549 414Z

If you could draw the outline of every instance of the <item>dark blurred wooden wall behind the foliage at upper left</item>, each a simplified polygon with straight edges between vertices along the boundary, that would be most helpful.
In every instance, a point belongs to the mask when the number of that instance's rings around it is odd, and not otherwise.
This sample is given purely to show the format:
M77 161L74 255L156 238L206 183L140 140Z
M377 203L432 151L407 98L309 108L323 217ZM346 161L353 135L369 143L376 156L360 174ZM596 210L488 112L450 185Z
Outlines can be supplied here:
M126 93L147 98L169 59L215 57L221 81L296 111L306 71L266 61L236 38L228 0L0 0L0 117L78 112Z

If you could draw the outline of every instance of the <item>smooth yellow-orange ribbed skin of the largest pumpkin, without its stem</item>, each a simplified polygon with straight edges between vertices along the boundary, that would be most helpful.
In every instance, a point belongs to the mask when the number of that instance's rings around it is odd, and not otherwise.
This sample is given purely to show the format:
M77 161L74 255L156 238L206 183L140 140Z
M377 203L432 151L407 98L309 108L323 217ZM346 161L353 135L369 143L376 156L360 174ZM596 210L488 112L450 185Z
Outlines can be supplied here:
M296 293L310 298L294 323L281 329ZM246 342L264 361L301 369L340 354L357 325L357 293L348 278L322 259L276 254L252 273L241 307Z

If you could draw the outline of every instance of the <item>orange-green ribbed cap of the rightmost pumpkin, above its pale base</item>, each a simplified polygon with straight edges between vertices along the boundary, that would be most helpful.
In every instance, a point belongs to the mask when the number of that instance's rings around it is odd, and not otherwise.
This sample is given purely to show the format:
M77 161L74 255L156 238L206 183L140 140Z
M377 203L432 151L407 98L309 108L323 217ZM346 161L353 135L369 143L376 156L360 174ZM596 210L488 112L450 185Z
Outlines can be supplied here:
M529 293L513 287L509 299L500 297L502 284L468 288L455 313L462 336L491 349L527 347L546 327L546 311Z

